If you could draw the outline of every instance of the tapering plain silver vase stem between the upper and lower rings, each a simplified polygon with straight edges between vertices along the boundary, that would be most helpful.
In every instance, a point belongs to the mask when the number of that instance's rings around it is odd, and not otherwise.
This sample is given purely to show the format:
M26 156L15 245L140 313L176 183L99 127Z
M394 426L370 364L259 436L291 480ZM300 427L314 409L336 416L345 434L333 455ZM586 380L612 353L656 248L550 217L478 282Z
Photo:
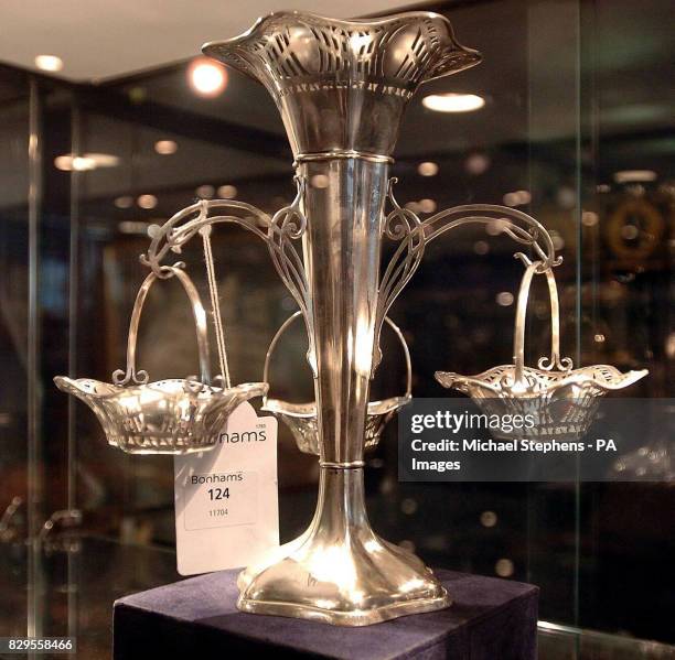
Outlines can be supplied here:
M301 162L321 464L363 465L388 163Z

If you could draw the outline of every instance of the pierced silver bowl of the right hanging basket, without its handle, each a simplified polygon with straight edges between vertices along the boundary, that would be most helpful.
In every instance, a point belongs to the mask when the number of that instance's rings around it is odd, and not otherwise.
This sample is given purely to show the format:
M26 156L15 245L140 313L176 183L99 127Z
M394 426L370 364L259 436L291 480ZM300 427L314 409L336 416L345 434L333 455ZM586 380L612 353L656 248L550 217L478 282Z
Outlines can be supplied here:
M610 365L561 371L524 367L523 379L517 381L515 366L501 365L478 376L449 371L435 376L444 388L469 394L484 414L533 415L532 428L492 429L499 440L555 437L571 442L588 432L600 397L633 385L646 374L646 369L622 374Z

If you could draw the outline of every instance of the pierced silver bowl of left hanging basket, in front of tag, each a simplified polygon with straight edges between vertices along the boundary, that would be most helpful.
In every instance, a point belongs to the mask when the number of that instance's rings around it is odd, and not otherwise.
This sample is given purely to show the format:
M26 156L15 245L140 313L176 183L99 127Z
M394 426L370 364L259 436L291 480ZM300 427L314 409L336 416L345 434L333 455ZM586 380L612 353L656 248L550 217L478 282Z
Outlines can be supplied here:
M211 450L235 408L267 392L264 382L223 389L179 378L133 387L63 376L54 382L94 411L108 444L129 454Z

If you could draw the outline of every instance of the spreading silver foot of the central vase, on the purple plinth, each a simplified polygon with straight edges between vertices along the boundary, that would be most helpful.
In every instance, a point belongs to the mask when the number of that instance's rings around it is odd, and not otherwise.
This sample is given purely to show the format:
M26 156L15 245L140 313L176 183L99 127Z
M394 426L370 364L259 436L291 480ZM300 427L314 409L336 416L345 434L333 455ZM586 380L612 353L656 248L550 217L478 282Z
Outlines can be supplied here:
M336 626L368 626L448 607L451 599L433 573L371 529L362 470L326 472L310 528L242 572L237 607ZM343 497L329 497L333 489Z

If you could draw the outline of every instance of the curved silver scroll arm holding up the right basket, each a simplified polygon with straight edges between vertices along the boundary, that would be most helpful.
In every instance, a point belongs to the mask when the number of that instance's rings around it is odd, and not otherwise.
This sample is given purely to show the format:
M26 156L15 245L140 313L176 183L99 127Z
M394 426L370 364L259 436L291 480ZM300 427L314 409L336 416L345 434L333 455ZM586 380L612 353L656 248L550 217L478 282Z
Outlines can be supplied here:
M468 204L440 210L422 221L413 210L401 208L396 202L393 192L395 183L396 178L389 181L388 196L394 210L385 220L384 232L388 238L399 240L400 245L394 252L379 284L373 375L382 359L379 334L389 307L419 268L427 245L446 231L465 225L492 227L494 235L505 234L534 250L538 262L537 273L559 266L562 261L561 257L556 257L553 239L544 225L522 210L493 204ZM533 263L524 252L518 251L515 256L526 267Z

